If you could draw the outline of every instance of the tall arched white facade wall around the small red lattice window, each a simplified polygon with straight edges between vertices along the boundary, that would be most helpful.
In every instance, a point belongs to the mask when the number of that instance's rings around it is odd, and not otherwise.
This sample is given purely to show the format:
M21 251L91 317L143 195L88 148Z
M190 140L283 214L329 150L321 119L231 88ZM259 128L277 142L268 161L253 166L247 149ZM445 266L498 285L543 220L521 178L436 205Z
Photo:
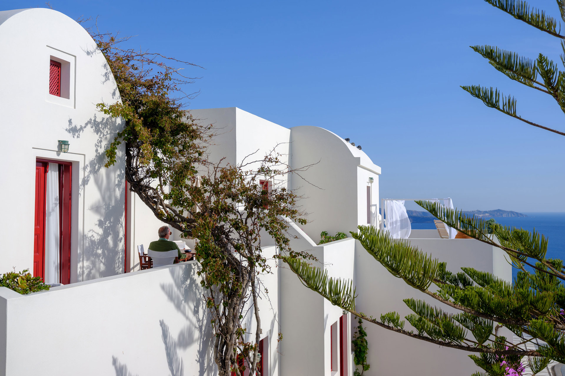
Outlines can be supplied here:
M0 273L33 267L37 157L72 162L71 282L122 273L123 149L103 166L121 124L95 108L120 99L106 60L82 26L46 8L0 12L0 51ZM68 99L49 94L51 56L69 61ZM68 153L58 140L69 141Z

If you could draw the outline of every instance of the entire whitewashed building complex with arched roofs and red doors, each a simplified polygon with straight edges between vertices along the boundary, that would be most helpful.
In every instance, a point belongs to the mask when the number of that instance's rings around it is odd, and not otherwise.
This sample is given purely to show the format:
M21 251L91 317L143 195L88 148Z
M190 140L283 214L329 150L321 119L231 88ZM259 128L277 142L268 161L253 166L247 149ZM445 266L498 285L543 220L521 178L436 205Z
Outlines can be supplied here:
M10 72L2 74L0 88L0 126L11 135L3 153L19 162L2 165L3 176L18 180L0 183L7 198L0 273L29 268L63 284L31 295L0 287L0 376L215 374L198 263L138 271L137 246L155 240L161 223L125 192L123 159L103 167L103 152L121 123L96 110L119 96L94 41L53 10L3 11L0 51L14 57L0 59L0 72ZM353 238L316 245L321 231L349 233L379 223L381 169L362 150L320 127L286 128L238 108L191 113L222 130L209 149L212 160L239 163L276 149L292 167L312 165L301 176L273 182L306 197L301 204L309 222L292 224L298 235L292 247L318 256L329 275L353 279L359 311L405 315L403 298L427 299ZM69 142L68 152L59 140ZM470 266L511 276L498 250L475 240L440 239L426 230L413 231L411 241L451 270ZM262 245L266 254L275 253L268 239ZM269 294L260 303L264 374L352 376L355 319L272 263L273 273L262 276ZM245 320L254 327L251 316ZM365 326L367 375L469 375L476 369L466 353Z

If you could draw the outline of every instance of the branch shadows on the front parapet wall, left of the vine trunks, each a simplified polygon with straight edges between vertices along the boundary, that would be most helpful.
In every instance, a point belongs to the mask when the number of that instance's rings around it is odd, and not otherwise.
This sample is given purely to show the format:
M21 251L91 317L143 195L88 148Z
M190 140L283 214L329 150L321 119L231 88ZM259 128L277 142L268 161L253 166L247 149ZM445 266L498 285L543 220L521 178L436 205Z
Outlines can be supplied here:
M199 376L215 375L218 373L212 353L212 327L210 316L203 300L202 288L197 272L199 264L194 263L193 268L169 268L172 281L176 283L161 284L163 293L169 302L173 304L175 310L179 312L186 325L182 327L176 338L171 334L169 326L165 320L159 320L161 327L161 339L163 340L167 365L171 376L184 376L185 360L189 364L197 364L197 369L191 369L191 374ZM189 347L190 355L194 353L194 359L182 359L179 351L186 352ZM121 364L117 357L112 356L112 365L116 371L116 376L137 376L132 374L127 365Z

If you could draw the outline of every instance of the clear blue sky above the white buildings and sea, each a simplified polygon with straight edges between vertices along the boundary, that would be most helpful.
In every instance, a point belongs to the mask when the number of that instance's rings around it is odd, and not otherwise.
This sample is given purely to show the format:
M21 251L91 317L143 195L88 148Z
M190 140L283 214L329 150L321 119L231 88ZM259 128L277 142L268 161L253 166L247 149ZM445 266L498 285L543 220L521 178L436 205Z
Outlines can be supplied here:
M530 3L560 18L555 1ZM201 65L189 72L201 77L190 108L239 107L285 127L314 125L351 138L383 169L381 198L565 211L565 137L489 109L459 87L498 86L516 96L521 116L564 131L564 115L549 96L506 78L468 47L544 52L559 61L559 41L483 0L51 6L73 19L98 16L101 30Z

